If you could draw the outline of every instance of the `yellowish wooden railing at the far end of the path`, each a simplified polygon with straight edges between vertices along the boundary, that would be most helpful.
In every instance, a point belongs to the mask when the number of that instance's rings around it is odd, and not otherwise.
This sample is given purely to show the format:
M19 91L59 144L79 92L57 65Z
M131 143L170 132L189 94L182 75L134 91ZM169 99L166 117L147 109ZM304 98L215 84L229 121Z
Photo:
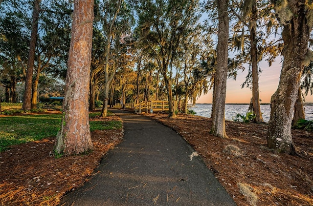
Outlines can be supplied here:
M153 113L155 111L168 111L169 105L168 101L148 101L148 102L141 102L138 104L134 104L135 112L150 112ZM177 109L177 101L173 101L173 111Z

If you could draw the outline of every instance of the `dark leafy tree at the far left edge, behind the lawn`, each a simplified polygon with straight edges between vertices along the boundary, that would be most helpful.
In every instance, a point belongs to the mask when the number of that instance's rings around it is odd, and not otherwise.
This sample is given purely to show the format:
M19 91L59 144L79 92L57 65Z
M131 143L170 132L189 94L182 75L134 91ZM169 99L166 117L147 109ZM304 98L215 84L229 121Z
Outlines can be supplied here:
M0 82L6 88L5 102L16 103L16 84L24 77L29 36L23 33L23 19L10 11L0 18Z

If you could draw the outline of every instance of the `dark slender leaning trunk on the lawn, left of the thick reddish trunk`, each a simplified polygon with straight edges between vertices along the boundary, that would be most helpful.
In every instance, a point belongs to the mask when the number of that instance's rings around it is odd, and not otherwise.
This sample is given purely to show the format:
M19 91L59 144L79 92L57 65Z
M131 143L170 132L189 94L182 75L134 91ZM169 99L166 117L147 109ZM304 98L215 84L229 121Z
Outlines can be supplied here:
M31 36L29 43L29 53L28 53L28 62L27 62L27 70L25 77L25 92L23 97L23 105L22 110L30 110L31 109L31 90L33 83L33 71L34 71L34 61L35 61L35 50L36 50L36 42L37 42L37 33L38 33L38 20L39 20L39 9L40 9L41 0L34 0L34 10L32 16L32 28L31 28Z

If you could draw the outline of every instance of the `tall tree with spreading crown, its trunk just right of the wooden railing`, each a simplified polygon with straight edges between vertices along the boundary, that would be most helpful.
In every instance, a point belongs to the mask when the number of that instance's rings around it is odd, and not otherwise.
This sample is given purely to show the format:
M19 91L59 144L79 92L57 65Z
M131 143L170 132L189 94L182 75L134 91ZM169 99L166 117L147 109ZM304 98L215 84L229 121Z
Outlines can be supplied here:
M175 117L172 106L173 61L179 44L189 27L199 19L197 0L142 1L139 9L141 43L158 64L166 85L169 117Z

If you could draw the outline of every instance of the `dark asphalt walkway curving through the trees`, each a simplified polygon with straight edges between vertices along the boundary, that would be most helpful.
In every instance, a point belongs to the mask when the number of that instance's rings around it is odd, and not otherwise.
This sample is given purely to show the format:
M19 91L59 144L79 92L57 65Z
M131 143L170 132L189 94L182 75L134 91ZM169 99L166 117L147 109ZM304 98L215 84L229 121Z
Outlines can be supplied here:
M112 111L124 122L124 141L104 157L89 182L64 197L65 205L236 205L176 132L138 114Z

